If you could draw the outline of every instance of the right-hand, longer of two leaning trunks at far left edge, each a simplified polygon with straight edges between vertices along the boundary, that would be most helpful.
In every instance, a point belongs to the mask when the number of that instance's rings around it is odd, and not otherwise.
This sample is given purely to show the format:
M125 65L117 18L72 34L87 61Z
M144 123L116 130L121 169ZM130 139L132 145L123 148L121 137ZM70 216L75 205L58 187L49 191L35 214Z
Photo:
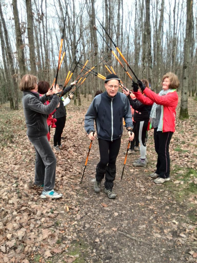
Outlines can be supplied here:
M8 31L7 31L6 23L3 17L1 5L0 5L0 16L1 16L1 21L3 24L3 30L4 30L4 35L5 35L6 47L7 47L7 54L8 54L9 64L10 64L10 70L12 73L12 79L14 83L14 109L18 110L19 94L18 94L17 74L15 74L13 56L12 56L12 52L11 52L11 48L10 48L9 40L8 40Z

